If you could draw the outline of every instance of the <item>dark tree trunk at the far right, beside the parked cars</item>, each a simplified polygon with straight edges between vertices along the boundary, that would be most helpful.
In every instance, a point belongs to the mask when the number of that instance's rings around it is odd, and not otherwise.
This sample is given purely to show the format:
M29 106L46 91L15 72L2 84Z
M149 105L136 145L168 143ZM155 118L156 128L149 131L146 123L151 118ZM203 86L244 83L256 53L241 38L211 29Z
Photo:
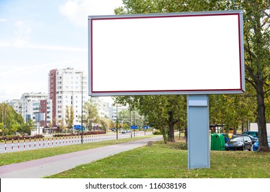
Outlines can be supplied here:
M263 91L263 84L260 82L256 84L257 94L257 123L258 123L258 137L259 148L258 152L269 152L267 143L267 124L265 119L265 95Z

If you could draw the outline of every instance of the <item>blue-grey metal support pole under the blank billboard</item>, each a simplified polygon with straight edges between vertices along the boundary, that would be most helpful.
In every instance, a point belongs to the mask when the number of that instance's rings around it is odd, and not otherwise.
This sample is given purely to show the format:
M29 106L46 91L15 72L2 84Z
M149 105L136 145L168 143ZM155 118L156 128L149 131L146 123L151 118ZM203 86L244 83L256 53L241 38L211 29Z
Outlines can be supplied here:
M210 168L208 95L188 95L188 169Z

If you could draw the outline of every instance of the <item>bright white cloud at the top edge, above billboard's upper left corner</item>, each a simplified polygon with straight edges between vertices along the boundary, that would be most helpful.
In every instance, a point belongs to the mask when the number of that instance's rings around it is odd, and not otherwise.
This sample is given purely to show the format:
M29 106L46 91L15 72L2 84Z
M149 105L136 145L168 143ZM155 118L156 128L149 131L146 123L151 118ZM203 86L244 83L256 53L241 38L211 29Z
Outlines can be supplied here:
M69 0L60 6L59 12L71 23L86 28L89 15L114 14L115 8L122 5L122 0Z

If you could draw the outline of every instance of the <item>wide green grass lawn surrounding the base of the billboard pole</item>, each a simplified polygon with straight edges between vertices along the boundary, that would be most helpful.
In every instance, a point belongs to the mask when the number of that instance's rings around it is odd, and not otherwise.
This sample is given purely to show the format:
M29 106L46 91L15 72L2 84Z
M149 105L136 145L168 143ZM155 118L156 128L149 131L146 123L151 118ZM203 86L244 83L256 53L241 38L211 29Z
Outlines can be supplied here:
M212 151L210 169L188 170L183 143L158 141L49 178L270 178L270 154Z

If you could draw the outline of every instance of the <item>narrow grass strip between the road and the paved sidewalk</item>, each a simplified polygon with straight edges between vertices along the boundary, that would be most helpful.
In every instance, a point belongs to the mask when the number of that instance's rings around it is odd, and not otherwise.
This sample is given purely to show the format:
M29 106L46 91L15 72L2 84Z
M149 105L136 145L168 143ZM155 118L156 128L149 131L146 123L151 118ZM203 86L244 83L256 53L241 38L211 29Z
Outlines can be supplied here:
M67 154L71 152L78 152L78 151L82 151L86 149L103 147L106 145L115 145L115 144L120 144L120 143L126 143L129 141L137 141L139 139L147 139L153 136L154 135L137 136L137 137L127 138L127 139L100 141L100 142L94 142L94 143L83 143L83 144L76 144L76 145L66 145L66 146L61 146L61 147L49 147L49 148L44 148L44 149L33 149L33 150L22 151L22 152L5 153L5 154L0 154L0 166L9 165L12 163L21 163L27 160L34 160L38 158L45 158L45 157L56 156L60 154Z

